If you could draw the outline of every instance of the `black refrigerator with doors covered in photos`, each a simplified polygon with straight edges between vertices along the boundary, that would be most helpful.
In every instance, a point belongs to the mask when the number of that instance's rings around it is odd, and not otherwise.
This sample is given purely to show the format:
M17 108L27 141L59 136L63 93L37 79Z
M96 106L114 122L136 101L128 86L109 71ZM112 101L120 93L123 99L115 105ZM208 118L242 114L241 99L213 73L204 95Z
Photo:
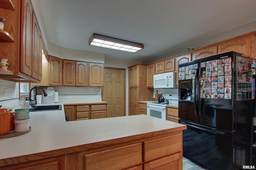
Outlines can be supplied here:
M213 170L252 162L252 59L234 51L179 65L183 155Z

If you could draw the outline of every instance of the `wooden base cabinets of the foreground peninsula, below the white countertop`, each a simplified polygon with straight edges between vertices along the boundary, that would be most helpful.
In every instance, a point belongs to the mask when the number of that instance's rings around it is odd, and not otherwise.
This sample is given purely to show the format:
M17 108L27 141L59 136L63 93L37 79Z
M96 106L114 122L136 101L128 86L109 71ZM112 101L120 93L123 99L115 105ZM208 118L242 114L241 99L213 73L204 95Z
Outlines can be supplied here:
M1 170L182 170L182 130L157 131L0 160Z

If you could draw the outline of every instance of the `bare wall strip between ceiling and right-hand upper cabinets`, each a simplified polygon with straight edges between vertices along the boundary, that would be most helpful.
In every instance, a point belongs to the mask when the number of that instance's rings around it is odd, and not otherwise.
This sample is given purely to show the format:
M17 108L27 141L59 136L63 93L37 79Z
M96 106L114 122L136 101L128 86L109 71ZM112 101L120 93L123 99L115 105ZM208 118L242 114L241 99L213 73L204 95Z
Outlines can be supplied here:
M242 25L240 27L236 27L236 28L231 29L229 31L225 31L223 33L208 37L206 39L198 40L198 41L196 41L192 44L184 45L183 47L181 47L179 49L175 49L175 50L170 51L169 53L165 53L163 55L156 56L152 59L145 60L142 63L144 63L144 64L152 63L154 61L158 61L158 60L161 60L161 59L165 59L165 58L168 58L168 57L172 57L174 55L184 53L184 52L188 51L188 48L197 49L199 47L204 47L206 45L217 43L219 41L223 41L225 39L236 37L238 35L242 35L244 33L248 33L248 32L255 31L255 30L256 30L256 21L254 21L252 23Z

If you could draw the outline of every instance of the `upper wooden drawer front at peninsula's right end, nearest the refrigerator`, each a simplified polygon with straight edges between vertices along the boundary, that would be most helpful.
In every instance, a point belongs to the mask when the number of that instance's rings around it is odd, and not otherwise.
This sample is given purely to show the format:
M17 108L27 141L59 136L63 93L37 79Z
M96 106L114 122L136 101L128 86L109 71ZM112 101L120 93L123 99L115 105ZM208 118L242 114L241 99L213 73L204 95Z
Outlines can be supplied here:
M182 152L182 133L144 142L144 162Z

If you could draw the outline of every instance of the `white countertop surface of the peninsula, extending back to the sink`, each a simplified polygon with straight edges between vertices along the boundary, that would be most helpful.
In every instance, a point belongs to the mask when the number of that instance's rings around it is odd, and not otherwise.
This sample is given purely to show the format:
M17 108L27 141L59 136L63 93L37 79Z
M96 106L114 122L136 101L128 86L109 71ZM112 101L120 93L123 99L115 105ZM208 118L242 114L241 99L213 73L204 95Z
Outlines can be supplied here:
M184 126L147 115L66 122L63 104L62 110L30 112L29 125L29 133L0 139L0 159Z

